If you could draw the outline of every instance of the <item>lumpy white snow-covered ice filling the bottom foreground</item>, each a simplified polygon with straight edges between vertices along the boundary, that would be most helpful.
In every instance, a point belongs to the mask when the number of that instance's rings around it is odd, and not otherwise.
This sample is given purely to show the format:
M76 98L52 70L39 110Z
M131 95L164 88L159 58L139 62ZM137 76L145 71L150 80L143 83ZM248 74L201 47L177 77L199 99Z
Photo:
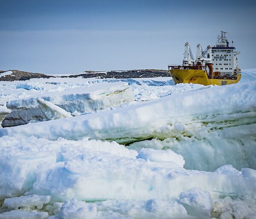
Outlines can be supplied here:
M186 170L170 150L99 140L5 136L0 145L0 218L209 218L213 208L221 215L226 196L231 213L233 202L256 213L253 169Z

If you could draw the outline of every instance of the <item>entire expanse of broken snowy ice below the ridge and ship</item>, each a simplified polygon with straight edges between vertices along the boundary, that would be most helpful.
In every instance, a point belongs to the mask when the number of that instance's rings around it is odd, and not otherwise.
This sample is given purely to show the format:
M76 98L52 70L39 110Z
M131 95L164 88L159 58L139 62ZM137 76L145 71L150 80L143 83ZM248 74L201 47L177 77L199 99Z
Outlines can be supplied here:
M1 120L0 219L256 218L256 69L2 81Z

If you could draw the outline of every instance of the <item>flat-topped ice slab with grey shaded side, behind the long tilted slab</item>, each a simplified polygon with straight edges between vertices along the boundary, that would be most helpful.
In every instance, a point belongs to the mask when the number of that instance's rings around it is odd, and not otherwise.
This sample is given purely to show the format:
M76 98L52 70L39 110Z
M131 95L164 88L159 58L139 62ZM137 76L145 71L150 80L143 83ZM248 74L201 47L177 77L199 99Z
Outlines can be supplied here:
M27 124L30 120L42 121L45 116L38 108L38 98L50 101L70 113L75 111L80 113L95 112L99 109L115 107L124 102L134 101L133 92L125 82L102 82L89 84L84 88L47 92L29 98L7 101L6 106L12 109L13 113L6 117L6 120L3 121L3 126ZM46 106L45 103L44 106ZM46 111L44 110L44 112Z

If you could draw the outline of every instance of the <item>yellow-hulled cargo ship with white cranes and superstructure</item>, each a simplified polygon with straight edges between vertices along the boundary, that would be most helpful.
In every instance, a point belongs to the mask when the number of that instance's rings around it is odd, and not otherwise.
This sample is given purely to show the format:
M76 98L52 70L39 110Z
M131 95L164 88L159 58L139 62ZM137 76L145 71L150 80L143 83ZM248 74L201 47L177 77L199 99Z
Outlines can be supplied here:
M204 85L236 84L241 79L241 69L238 66L236 55L240 52L229 45L225 36L227 32L221 31L215 46L202 49L197 45L196 59L192 54L189 43L185 44L182 64L170 64L168 70L175 84L193 83Z

